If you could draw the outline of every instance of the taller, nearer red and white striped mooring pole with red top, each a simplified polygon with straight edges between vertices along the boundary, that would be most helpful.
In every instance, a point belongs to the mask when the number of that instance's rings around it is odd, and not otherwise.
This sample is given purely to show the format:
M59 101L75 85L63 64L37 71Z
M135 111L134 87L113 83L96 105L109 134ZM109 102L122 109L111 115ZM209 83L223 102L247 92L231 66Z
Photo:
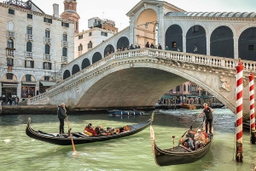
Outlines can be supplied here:
M242 162L242 75L241 59L236 66L236 162Z

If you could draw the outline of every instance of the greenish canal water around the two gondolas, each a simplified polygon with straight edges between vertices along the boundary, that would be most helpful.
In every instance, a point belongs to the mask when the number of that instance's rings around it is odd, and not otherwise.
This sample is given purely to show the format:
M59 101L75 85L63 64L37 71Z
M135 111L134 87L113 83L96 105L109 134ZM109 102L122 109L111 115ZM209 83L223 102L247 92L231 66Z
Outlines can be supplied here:
M201 110L156 111L154 133L160 148L172 147L172 135L178 138L189 127ZM46 132L58 132L59 121L55 115L0 116L0 170L109 170L109 171L248 171L256 165L256 145L249 143L249 133L243 134L243 162L235 162L236 116L229 109L214 111L214 140L212 147L201 160L189 164L159 167L154 162L149 128L138 134L118 140L75 145L79 156L73 156L72 145L51 145L32 140L25 133L28 117L32 128ZM88 123L106 127L148 120L150 113L137 117L108 117L108 114L70 115L68 121L73 131L83 131ZM193 126L201 124L198 119ZM65 123L67 131L67 123Z

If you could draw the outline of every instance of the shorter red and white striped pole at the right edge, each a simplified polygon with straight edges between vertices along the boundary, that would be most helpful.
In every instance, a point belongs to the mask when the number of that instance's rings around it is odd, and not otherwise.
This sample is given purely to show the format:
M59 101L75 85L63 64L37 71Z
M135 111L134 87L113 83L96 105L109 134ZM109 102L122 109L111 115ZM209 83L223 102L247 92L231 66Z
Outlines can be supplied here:
M249 96L250 96L250 142L255 144L255 113L254 113L254 75L251 71L249 74Z

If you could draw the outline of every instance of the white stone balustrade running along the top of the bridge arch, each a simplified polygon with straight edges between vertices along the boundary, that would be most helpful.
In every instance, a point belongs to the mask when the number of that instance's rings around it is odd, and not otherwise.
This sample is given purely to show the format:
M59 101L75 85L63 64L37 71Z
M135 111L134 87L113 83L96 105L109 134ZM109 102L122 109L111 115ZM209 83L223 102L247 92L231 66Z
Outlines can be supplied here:
M39 94L32 97L28 100L28 105L36 105L40 100L45 100L49 97L54 96L55 94L60 94L62 91L65 91L68 88L73 88L77 83L84 81L90 77L95 76L103 71L106 71L108 68L116 65L116 62L121 63L130 63L131 67L134 66L134 62L137 62L137 58L141 57L141 60L155 60L155 62L163 62L166 64L176 64L177 66L187 66L192 70L201 70L205 71L215 69L224 69L229 71L231 74L236 74L236 64L238 60L230 58L222 58L216 56L207 56L203 54L188 54L177 51L166 51L159 50L154 48L140 48L130 51L121 51L108 55L108 57L97 61L95 64L84 68L84 70L77 72L71 77L68 77L61 83L56 84L55 86L47 89L44 94ZM148 59L149 57L149 59ZM122 61L119 61L119 60ZM127 60L124 60L127 59ZM134 59L137 59L134 61ZM256 71L256 62L243 60L245 66L245 71ZM201 67L198 67L201 66Z

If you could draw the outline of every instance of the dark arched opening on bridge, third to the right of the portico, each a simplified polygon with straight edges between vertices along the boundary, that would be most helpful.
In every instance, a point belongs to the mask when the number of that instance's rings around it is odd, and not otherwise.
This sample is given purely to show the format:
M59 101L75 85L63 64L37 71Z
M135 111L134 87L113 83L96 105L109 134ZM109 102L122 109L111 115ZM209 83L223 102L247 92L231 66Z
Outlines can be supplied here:
M210 51L212 56L234 58L234 39L230 27L219 26L212 31Z

